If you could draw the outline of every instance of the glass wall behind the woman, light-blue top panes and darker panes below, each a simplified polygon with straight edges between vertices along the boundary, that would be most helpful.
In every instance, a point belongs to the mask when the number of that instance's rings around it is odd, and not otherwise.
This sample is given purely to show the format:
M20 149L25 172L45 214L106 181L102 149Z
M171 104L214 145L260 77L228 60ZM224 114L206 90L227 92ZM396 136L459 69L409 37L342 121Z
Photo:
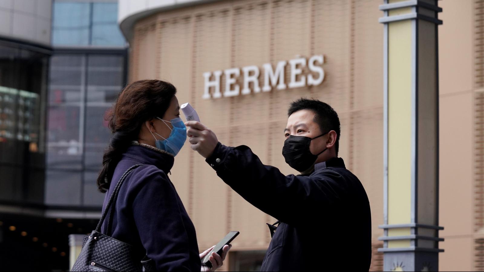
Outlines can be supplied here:
M126 81L126 42L117 18L116 0L53 3L47 205L102 206L95 181L110 135L105 115Z

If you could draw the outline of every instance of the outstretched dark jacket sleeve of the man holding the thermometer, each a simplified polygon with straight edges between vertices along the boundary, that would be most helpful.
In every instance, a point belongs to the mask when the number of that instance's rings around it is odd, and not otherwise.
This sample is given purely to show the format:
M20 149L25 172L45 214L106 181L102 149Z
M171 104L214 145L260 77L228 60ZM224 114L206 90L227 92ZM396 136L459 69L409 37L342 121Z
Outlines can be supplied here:
M346 194L345 180L333 170L312 177L285 176L276 167L263 165L247 146L218 143L206 162L249 203L293 226L331 212Z

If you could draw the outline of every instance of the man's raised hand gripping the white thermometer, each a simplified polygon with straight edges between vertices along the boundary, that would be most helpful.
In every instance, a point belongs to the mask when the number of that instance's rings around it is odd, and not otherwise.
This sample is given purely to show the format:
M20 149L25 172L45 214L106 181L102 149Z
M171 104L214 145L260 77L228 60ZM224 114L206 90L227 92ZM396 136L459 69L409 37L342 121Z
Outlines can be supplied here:
M187 127L186 135L191 144L190 147L204 158L210 157L218 143L215 133L197 121L188 121L185 126Z

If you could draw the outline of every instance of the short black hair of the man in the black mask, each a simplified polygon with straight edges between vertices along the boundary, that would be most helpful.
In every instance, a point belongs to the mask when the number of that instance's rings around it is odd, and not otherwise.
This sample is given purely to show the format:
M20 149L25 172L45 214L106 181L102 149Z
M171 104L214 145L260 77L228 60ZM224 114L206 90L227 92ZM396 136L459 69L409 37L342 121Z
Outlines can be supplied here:
M331 130L334 130L336 132L335 146L337 156L339 150L339 136L341 132L341 125L339 123L339 118L336 111L334 111L334 109L328 104L321 102L317 99L300 98L289 105L289 109L287 110L287 116L291 116L291 114L302 109L311 110L316 113L314 121L319 125L321 133L326 133ZM325 131L322 131L323 129Z

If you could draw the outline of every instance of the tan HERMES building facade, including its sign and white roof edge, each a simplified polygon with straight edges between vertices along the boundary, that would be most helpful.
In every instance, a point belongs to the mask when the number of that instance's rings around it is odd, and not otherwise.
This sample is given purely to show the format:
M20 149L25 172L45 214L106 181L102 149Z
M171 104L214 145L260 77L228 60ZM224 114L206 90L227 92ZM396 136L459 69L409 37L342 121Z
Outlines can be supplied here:
M222 143L247 145L264 164L295 173L281 155L291 101L314 97L333 106L341 120L339 156L362 181L370 199L371 270L381 270L377 249L383 244L378 226L383 224L384 108L378 6L383 1L119 3L120 27L131 48L129 82L170 81L180 103L190 102ZM474 0L444 0L439 6L444 22L439 26L439 225L445 228L440 231L445 241L439 248L445 252L439 268L480 271L484 6ZM323 70L321 82L315 66ZM271 239L265 224L274 218L235 194L189 148L177 155L171 172L197 228L200 249L239 230L224 269L257 270ZM207 220L211 214L219 214L216 224Z

